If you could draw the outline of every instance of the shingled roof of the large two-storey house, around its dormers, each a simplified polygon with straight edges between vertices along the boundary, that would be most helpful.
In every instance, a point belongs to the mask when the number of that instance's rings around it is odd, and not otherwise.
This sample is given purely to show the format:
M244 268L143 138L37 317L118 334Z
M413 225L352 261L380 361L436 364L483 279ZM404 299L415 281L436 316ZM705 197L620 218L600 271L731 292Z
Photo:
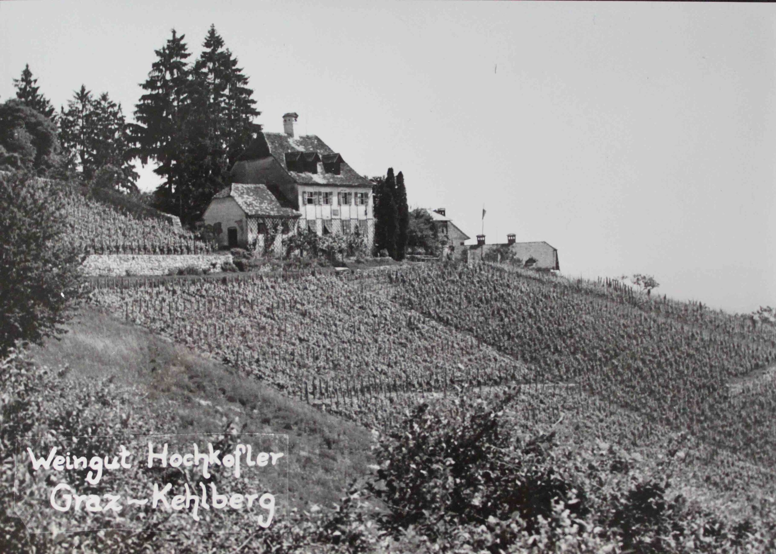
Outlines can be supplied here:
M261 137L261 138L260 138ZM248 150L260 152L263 150L263 144L266 143L270 154L275 160L279 161L286 168L287 153L303 153L302 158L310 158L310 154L315 153L324 158L325 161L331 160L332 154L337 154L328 147L323 140L316 135L303 135L301 137L289 137L286 133L258 133L256 140L259 144L256 148ZM336 160L336 158L334 158ZM341 157L339 157L341 160ZM289 175L298 183L320 184L320 185L351 185L351 186L372 186L369 179L359 175L345 161L340 162L339 175L334 173L303 173L300 171L289 171Z

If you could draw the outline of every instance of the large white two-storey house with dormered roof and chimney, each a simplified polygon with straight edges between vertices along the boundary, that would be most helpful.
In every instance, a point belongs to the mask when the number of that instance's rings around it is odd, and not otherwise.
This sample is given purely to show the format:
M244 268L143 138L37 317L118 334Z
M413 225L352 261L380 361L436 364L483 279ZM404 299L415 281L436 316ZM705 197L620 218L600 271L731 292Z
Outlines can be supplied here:
M374 241L372 183L316 135L297 137L298 115L283 116L283 133L258 131L231 171L234 182L263 184L296 210L296 229L352 234Z

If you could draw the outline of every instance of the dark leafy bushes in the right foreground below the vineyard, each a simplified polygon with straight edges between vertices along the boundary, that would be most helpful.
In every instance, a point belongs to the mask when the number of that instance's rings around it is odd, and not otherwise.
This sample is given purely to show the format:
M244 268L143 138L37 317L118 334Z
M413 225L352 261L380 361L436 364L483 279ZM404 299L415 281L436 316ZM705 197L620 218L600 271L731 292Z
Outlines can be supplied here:
M579 437L560 445L562 418L550 428L516 428L506 414L517 394L421 404L382 435L382 463L368 486L388 507L379 527L398 540L411 531L447 552L772 548L766 528L690 507L669 493L660 469L612 445Z

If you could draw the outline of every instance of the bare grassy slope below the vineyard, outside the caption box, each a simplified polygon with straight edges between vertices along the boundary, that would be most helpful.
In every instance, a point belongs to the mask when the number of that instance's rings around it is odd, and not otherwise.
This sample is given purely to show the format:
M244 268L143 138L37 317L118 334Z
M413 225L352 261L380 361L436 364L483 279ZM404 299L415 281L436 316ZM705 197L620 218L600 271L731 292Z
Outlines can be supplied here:
M292 506L329 504L369 472L369 431L244 379L220 362L94 308L61 340L33 348L42 364L71 375L109 376L151 407L170 434L221 431L237 417L245 432L289 435ZM127 429L127 432L132 432Z

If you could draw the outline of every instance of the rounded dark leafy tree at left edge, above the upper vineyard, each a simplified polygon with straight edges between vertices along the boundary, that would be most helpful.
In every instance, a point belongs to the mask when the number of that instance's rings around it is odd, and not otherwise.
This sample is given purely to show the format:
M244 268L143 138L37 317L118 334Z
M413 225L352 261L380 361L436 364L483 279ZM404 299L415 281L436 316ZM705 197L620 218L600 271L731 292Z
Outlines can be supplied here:
M61 162L57 128L19 100L0 104L0 171L47 175Z

